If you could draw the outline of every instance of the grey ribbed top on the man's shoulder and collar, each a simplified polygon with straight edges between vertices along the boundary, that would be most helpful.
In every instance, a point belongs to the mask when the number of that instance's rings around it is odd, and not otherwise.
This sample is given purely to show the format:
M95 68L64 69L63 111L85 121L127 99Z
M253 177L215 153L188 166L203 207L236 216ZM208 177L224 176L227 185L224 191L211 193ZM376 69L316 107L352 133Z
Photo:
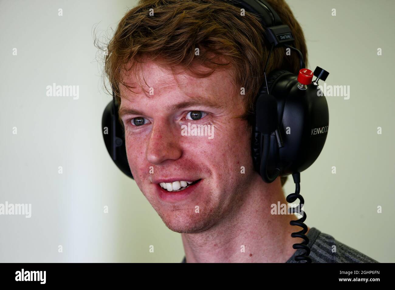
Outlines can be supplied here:
M378 263L376 260L337 241L333 236L324 234L316 228L310 228L307 233L309 239L311 261L313 263ZM336 247L333 247L333 246ZM295 256L303 254L305 250L298 249L286 263L305 263L294 260ZM186 263L186 258L181 263Z

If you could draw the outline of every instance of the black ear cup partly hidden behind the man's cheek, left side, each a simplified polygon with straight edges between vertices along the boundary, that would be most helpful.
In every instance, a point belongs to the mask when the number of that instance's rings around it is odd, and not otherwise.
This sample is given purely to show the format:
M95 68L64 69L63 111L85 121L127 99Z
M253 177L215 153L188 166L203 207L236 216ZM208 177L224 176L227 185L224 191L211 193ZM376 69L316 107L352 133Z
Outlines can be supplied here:
M102 116L102 134L111 159L127 176L133 178L126 155L125 133L118 120L118 108L114 101L108 103Z

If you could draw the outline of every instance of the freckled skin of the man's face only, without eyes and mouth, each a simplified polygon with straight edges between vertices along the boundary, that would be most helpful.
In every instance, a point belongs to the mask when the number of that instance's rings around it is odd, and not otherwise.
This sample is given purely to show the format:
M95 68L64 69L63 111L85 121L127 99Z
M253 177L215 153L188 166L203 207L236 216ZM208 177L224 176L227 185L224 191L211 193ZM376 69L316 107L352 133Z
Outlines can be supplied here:
M206 230L235 206L243 194L239 184L248 184L251 177L249 174L239 174L238 164L241 162L246 168L252 168L252 159L245 154L250 150L246 122L237 118L244 112L241 98L231 96L232 90L238 90L231 83L227 71L198 79L187 74L173 77L169 71L154 63L148 63L145 69L156 72L145 74L147 84L154 88L153 96L145 96L141 90L135 91L140 94L133 94L121 88L122 95L127 96L122 98L121 107L144 111L145 116L152 120L139 131L126 126L126 152L132 174L167 227L180 233ZM181 124L193 121L179 122L178 115L187 109L174 113L169 112L166 106L188 101L188 95L201 95L223 106L221 109L203 106L188 109L203 110L209 114L199 122L214 125L213 139L207 136L181 136ZM154 176L187 174L202 178L202 192L186 202L166 204L159 200L150 182L150 166L154 166ZM196 205L199 206L199 214L195 213Z

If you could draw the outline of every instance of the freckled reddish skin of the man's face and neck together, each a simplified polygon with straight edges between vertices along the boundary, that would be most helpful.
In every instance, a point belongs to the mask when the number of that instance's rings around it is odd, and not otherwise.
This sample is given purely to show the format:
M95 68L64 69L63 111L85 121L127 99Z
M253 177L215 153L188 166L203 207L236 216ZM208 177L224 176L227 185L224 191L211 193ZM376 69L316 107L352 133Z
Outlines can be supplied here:
M122 118L128 162L139 189L166 226L182 233L187 262L286 262L295 251L292 244L303 240L290 238L296 230L289 221L296 218L270 213L271 204L286 203L280 178L266 184L253 169L247 122L238 117L244 112L243 96L237 95L240 89L232 84L229 71L199 79L186 73L173 75L147 62L142 73L148 84L145 89L154 88L154 95L144 94L139 86L134 93L121 86L121 108L143 111L142 117L149 120L133 126L130 120L141 115ZM136 80L126 76L125 81ZM198 96L221 107L167 108ZM182 120L191 110L207 116ZM213 125L214 138L182 136L181 125L188 122ZM154 174L149 173L150 166ZM158 197L152 178L185 175L202 179L198 194L175 203ZM254 257L241 253L241 245L256 253Z

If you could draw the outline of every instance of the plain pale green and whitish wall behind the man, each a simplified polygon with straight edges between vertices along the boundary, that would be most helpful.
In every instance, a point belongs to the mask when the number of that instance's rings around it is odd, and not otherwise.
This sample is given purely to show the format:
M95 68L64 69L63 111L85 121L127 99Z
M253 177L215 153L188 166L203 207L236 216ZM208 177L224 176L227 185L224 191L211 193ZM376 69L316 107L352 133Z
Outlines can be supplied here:
M306 223L380 262L395 262L395 2L288 3L305 32L308 67L329 71L327 84L350 86L348 100L327 97L327 142L301 174ZM0 262L181 261L180 235L113 165L100 131L111 98L102 90L92 30L110 33L134 4L0 2L0 203L32 204L30 219L0 215ZM79 85L79 99L47 97L53 82ZM293 190L288 180L285 192Z

